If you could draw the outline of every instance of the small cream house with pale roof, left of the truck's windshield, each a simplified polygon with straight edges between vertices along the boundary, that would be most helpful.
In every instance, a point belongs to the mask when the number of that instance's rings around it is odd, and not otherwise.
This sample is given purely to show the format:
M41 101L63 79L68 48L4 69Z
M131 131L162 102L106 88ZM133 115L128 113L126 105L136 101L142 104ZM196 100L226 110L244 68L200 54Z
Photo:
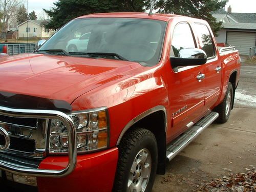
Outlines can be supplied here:
M49 38L51 37L57 29L48 29L45 28L45 20L27 20L26 22L19 24L18 28L18 37L27 38L27 37L38 37L38 38Z

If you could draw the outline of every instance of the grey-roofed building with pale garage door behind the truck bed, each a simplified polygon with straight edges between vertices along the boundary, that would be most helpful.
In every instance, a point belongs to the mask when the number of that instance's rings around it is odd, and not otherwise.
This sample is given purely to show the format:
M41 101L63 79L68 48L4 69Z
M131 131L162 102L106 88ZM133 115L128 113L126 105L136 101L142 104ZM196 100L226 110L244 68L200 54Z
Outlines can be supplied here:
M225 11L212 12L223 29L218 32L217 42L236 46L241 55L249 55L256 45L256 13L232 13L231 7Z

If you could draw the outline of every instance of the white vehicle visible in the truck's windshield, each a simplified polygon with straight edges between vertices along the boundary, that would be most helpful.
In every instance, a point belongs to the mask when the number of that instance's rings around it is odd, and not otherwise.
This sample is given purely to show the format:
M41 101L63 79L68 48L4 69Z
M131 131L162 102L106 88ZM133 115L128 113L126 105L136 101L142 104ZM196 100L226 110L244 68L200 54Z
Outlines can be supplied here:
M81 35L79 38L68 41L66 49L69 52L86 51L91 32Z

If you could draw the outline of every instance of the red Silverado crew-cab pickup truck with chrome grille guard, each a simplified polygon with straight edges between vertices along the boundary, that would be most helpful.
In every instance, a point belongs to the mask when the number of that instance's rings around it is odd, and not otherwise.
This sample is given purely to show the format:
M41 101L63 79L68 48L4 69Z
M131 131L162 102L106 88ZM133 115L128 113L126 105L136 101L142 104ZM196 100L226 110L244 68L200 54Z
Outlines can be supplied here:
M86 33L87 46L69 50ZM166 159L213 121L228 120L239 74L238 51L218 48L201 19L73 19L34 53L1 58L1 182L150 191Z

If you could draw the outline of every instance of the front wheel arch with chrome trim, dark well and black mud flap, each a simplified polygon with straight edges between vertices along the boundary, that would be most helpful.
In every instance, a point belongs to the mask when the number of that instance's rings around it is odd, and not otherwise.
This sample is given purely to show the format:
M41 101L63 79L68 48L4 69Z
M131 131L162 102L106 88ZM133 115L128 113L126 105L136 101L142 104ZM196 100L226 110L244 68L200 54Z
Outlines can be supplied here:
M132 131L133 129L136 129L136 127L143 127L155 135L158 148L157 174L165 174L167 131L167 114L165 107L162 105L155 106L132 119L125 125L119 135L116 145L119 145L127 131Z

